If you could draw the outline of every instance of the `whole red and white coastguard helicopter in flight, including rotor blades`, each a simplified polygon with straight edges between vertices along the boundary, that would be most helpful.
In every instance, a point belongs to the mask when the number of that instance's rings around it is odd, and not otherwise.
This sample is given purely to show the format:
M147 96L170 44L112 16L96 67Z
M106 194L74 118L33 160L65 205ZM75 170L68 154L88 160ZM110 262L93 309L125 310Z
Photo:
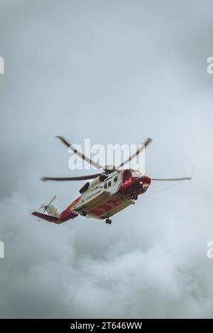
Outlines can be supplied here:
M86 162L102 169L99 174L92 174L88 176L76 176L76 177L42 177L42 181L82 181L88 179L94 179L91 182L87 182L80 189L80 194L75 201L73 201L62 213L58 213L58 210L52 205L56 196L48 203L48 205L42 205L43 213L33 212L32 215L53 222L61 224L67 220L77 218L78 215L87 216L87 218L96 218L100 220L106 220L107 224L111 224L111 216L119 213L119 211L134 204L140 194L145 193L151 181L184 181L190 180L191 177L173 178L173 179L156 179L150 178L141 174L141 172L133 169L122 169L127 162L135 158L142 149L148 147L152 142L150 138L143 142L143 145L134 153L129 159L122 162L119 166L101 166L89 159L81 152L77 151L73 145L70 144L64 137L58 137L58 139L66 145L68 148L81 157ZM48 214L45 214L47 212Z

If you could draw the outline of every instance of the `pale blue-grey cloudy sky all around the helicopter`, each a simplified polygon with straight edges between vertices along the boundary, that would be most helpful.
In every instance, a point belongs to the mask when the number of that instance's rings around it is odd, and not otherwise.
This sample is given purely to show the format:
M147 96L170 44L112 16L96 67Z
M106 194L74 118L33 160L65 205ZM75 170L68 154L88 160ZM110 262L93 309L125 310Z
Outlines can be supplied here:
M0 317L213 316L212 29L208 0L0 0ZM40 176L89 173L56 135L151 137L146 174L193 179L153 182L111 225L38 221L84 185Z

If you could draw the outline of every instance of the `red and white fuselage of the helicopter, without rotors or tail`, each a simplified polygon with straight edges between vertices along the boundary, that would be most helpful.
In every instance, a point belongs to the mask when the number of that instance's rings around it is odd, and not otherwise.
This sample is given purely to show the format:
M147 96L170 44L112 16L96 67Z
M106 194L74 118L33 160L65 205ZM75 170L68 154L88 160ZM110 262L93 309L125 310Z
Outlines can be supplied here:
M148 176L132 169L112 171L104 181L97 177L85 184L87 189L60 214L60 221L73 218L73 213L87 218L110 218L133 204L150 184Z

